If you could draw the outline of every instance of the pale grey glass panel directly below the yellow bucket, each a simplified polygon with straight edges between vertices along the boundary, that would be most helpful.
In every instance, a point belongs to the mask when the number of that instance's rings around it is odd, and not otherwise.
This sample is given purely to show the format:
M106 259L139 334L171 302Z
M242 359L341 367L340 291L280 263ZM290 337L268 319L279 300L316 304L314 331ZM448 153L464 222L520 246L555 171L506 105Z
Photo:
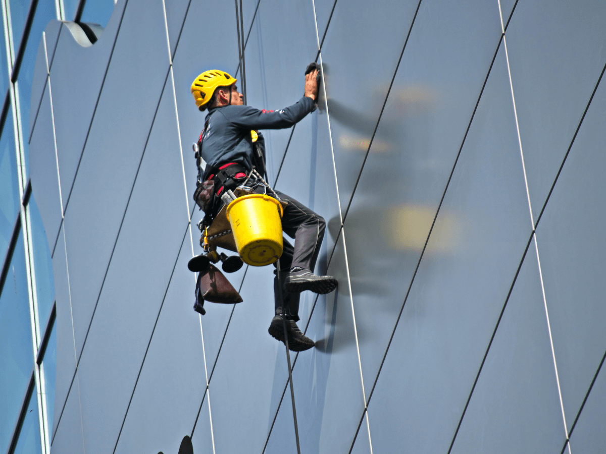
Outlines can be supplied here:
M284 344L267 333L273 317L272 278L267 267L248 267L240 292L244 302L236 304L210 381L216 452L237 452L242 446L248 452L262 452L278 410L288 369ZM241 373L246 380L233 380ZM234 432L233 427L240 430Z

